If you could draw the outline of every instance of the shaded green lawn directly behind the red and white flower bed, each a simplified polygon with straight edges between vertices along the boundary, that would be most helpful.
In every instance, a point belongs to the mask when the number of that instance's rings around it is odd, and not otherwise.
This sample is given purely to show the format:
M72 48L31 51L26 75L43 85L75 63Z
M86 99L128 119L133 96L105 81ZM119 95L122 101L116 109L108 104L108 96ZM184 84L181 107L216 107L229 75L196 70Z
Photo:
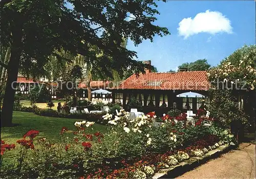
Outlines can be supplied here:
M74 123L76 121L82 121L81 119L67 119L67 118L52 118L37 116L33 113L26 113L20 111L13 111L13 123L19 124L15 127L1 127L1 139L8 144L16 144L18 139L21 139L23 135L31 129L39 130L40 137L46 137L51 141L57 141L60 129L65 126L71 132L70 137L73 138L72 131L76 130ZM88 131L88 133L93 133L95 131L106 131L106 126L100 124L93 125L93 131Z

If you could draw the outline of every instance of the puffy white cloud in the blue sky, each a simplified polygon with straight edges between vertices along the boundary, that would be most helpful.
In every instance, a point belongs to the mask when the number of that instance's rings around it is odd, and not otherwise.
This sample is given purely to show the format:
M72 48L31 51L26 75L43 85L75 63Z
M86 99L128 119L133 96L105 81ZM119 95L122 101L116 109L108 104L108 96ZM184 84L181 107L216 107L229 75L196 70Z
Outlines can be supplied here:
M194 18L183 18L177 30L185 39L201 32L212 35L220 32L232 33L231 21L221 12L210 10L200 12Z

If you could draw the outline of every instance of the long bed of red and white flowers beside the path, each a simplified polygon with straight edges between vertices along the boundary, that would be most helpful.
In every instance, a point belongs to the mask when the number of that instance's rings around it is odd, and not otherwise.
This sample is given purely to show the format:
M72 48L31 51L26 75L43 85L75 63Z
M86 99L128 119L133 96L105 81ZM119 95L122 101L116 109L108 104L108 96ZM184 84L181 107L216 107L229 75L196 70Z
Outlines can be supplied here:
M174 118L165 119L154 127L154 113L131 120L121 109L118 116L103 116L109 125L106 133L94 131L91 135L94 122L76 122L74 138L67 138L72 131L62 127L57 143L36 139L39 131L31 130L11 148L1 141L1 177L148 178L191 156L235 142L227 130L185 124L183 117L177 123ZM10 164L5 152L14 146L19 155Z

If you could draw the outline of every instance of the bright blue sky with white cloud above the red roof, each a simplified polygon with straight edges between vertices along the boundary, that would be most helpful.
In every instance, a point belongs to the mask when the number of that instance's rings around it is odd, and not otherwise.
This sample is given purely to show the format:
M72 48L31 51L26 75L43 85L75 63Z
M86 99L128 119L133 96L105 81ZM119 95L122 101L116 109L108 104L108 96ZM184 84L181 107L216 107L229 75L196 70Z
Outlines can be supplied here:
M155 36L154 42L144 40L138 47L129 41L127 49L136 51L139 60L150 59L159 72L176 70L181 63L203 58L217 65L244 44L255 44L254 1L167 1L158 2L157 9L160 15L155 24L168 28L171 35ZM206 10L214 13L206 14ZM203 14L194 20L198 13ZM177 28L189 17L195 26L192 30L185 29L185 33L190 32L185 38ZM191 35L191 32L194 33Z

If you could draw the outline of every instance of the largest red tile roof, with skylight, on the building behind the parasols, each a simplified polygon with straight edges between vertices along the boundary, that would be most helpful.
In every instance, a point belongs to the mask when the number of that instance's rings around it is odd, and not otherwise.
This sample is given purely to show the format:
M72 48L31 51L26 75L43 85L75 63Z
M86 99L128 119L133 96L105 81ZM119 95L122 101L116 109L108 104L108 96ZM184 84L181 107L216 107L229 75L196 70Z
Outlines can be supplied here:
M113 89L208 90L206 71L134 74Z

